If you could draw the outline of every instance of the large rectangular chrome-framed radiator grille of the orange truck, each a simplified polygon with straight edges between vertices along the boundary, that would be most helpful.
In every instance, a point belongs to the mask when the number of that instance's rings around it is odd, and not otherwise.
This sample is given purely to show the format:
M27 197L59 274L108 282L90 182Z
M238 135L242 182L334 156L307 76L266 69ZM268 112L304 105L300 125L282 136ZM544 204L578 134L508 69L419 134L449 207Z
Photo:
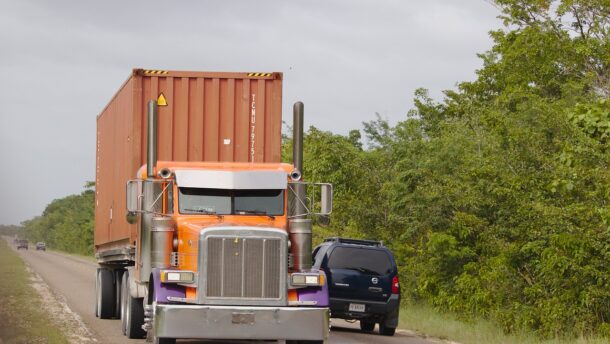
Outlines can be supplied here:
M244 300L283 300L286 238L277 230L210 235L204 231L203 297L206 303L247 304ZM242 235L240 235L242 234ZM265 234L273 234L267 236ZM231 300L233 302L231 302ZM214 302L217 301L217 302ZM275 304L275 303L273 303Z

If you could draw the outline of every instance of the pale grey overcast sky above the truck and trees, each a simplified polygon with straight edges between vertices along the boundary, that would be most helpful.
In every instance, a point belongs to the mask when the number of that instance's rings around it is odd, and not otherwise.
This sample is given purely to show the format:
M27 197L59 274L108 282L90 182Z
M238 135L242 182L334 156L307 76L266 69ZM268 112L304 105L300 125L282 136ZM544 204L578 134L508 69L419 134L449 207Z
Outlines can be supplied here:
M95 179L95 119L135 67L283 72L284 119L392 124L425 87L473 80L499 28L485 0L0 0L0 224Z

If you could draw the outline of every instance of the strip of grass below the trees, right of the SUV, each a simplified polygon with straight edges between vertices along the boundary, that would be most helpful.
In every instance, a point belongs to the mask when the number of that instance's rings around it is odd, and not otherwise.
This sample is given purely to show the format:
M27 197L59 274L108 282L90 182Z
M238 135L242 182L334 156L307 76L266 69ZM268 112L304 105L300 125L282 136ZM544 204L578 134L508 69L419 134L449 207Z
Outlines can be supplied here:
M487 320L464 321L450 313L440 313L430 306L410 304L400 310L399 328L426 336L462 344L601 344L607 338L579 338L574 340L541 340L533 334L505 334L500 327Z

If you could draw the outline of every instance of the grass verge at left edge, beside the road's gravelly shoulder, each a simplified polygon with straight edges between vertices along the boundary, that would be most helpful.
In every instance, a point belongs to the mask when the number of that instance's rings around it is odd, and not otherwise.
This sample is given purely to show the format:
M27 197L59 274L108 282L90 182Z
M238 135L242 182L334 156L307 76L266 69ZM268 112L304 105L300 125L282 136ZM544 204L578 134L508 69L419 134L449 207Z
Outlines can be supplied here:
M30 286L19 256L0 238L0 342L4 344L68 343Z

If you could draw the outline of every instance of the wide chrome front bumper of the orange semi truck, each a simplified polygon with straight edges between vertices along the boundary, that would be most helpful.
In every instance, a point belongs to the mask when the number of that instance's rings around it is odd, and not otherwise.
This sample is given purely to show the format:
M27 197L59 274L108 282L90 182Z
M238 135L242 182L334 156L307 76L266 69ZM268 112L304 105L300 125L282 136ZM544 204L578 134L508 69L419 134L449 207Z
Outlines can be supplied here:
M156 304L159 338L325 340L328 308Z

